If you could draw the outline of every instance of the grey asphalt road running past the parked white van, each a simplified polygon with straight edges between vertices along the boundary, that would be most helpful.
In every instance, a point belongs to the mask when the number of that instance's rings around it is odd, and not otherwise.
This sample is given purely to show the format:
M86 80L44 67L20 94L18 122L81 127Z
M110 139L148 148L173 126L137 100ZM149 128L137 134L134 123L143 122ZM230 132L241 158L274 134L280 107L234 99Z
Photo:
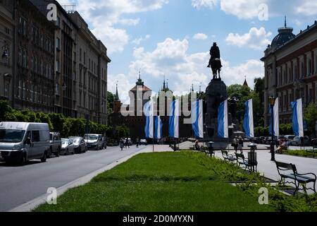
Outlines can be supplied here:
M133 146L121 151L118 147L108 147L106 150L53 157L45 163L32 160L23 167L0 162L0 211L27 203L46 194L49 187L57 189L142 148Z

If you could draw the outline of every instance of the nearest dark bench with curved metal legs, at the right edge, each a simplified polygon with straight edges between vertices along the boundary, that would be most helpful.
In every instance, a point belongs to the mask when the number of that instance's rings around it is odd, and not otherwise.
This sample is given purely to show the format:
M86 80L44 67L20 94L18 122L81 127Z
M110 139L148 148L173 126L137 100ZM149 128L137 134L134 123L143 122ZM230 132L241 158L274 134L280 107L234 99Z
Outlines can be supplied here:
M312 190L316 193L316 174L299 174L296 166L292 163L275 162L275 164L281 178L279 184L294 184L296 187L294 194L296 194L299 190L304 190L305 193L307 190ZM292 181L294 180L294 182L285 182L285 179L291 179ZM313 189L306 188L306 184L309 183L313 183ZM300 189L301 185L303 186L303 189Z

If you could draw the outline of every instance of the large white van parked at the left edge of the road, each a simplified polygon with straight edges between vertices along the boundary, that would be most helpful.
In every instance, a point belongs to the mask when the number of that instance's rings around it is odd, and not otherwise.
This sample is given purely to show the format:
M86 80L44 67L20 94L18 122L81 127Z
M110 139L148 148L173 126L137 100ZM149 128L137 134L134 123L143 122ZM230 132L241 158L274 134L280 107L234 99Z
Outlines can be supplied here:
M49 124L0 122L0 160L20 165L32 159L46 162L49 147Z

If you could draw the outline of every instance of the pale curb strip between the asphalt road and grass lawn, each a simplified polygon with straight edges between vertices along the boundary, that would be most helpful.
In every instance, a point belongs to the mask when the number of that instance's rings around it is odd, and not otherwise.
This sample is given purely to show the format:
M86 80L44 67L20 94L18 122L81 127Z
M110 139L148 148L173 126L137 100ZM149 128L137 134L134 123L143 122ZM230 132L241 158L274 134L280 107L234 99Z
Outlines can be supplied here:
M120 160L117 160L116 162L113 162L109 165L106 165L105 167L102 167L101 169L98 169L94 172L91 172L84 177L80 177L79 179L75 179L75 181L70 182L68 184L65 184L57 189L57 195L61 196L64 194L68 189L73 189L77 186L81 186L84 184L87 184L90 182L94 177L96 177L98 174L101 174L102 172L106 172L110 169L113 169L113 167L116 167L117 165L120 165L123 162L128 161L131 157L134 157L135 155L139 155L140 153L144 153L144 150L139 150L136 153L132 153L131 155L128 155L126 157L121 158ZM46 203L47 194L44 194L42 196L39 196L31 201L28 201L27 203L24 203L18 207L15 207L11 210L8 210L8 212L30 212L37 208L37 206L42 205Z

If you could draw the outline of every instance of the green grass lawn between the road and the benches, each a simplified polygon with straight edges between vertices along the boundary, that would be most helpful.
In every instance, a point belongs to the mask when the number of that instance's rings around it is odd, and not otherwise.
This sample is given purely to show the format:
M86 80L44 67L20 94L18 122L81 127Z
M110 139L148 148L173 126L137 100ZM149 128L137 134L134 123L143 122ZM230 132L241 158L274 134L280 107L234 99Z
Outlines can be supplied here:
M197 155L201 155L197 153ZM187 153L140 154L35 211L274 211Z

